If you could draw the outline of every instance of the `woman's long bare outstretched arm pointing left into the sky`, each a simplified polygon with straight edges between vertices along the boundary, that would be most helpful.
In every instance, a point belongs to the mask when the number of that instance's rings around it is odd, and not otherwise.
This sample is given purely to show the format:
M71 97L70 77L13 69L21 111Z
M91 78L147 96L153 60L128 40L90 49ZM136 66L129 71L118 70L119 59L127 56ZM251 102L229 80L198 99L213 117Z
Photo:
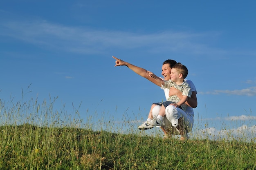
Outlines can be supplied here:
M148 80L151 81L152 83L154 83L154 84L156 84L156 85L158 85L158 86L161 87L161 83L159 83L159 81L157 81L155 78L153 78L153 77L151 77L151 76L148 76L148 72L147 72L146 69L141 68L141 67L137 67L137 66L135 66L135 65L132 65L132 64L130 64L130 63L128 63L128 62L125 62L125 61L123 61L123 60L121 60L121 59L119 59L119 58L116 58L116 57L114 57L114 56L112 56L112 57L115 58L115 60L116 60L116 61L115 61L115 63L116 63L115 67L116 67L116 66L120 66L120 65L125 65L125 66L127 66L129 69L131 69L133 72L139 74L140 76L142 76L142 77L148 79ZM158 78L159 78L159 77L158 77ZM159 78L159 79L161 79L161 78ZM161 80L162 80L162 79L161 79Z

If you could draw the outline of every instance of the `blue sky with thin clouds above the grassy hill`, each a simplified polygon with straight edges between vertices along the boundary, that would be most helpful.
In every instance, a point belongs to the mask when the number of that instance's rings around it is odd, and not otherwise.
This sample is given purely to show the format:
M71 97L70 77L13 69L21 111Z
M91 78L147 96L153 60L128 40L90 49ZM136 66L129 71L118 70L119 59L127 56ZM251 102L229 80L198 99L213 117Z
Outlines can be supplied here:
M57 110L79 108L85 122L125 117L136 129L164 92L114 67L112 56L159 76L162 62L173 59L197 88L202 131L207 124L217 134L223 126L255 132L255 7L238 0L1 1L0 98L18 101L23 90L26 100L43 102L50 94Z

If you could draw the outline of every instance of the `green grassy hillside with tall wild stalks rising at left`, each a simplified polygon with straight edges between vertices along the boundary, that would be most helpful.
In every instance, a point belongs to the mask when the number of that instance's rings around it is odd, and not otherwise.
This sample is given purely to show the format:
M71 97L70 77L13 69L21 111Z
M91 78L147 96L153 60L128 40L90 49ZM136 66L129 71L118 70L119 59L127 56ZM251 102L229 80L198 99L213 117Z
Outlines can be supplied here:
M53 111L54 101L0 101L1 170L256 170L254 141L180 141L139 130L93 130L86 123L76 128L76 119Z

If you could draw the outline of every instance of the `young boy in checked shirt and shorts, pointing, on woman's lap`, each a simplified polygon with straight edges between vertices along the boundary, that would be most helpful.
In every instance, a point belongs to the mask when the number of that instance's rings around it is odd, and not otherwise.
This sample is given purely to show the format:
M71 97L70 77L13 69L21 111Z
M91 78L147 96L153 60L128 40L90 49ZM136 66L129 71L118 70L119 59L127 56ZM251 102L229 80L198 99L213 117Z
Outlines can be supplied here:
M152 120L148 120L147 124L153 126L163 126L163 117L165 116L165 108L168 105L173 105L175 107L180 107L183 111L186 111L187 105L185 102L191 97L191 88L188 83L184 82L184 79L188 75L188 69L186 66L182 65L181 63L175 64L171 69L171 80L163 81L161 78L155 76L152 72L149 72L148 76L155 78L159 83L163 85L163 88L171 88L175 87L182 92L183 98L180 99L176 95L170 96L167 101L161 103L161 109L159 115Z

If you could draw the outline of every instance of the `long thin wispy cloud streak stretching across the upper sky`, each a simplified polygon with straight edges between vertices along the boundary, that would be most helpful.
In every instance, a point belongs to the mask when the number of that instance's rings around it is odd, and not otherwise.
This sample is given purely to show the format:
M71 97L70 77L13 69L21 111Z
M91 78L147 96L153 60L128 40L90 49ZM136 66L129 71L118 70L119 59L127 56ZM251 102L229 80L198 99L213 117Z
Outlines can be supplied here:
M122 31L92 30L86 27L68 27L47 21L0 23L0 35L9 36L34 45L82 54L97 54L109 48L148 51L179 51L189 54L220 54L220 49L207 47L205 38L216 38L218 33L187 33L162 31L141 34Z

